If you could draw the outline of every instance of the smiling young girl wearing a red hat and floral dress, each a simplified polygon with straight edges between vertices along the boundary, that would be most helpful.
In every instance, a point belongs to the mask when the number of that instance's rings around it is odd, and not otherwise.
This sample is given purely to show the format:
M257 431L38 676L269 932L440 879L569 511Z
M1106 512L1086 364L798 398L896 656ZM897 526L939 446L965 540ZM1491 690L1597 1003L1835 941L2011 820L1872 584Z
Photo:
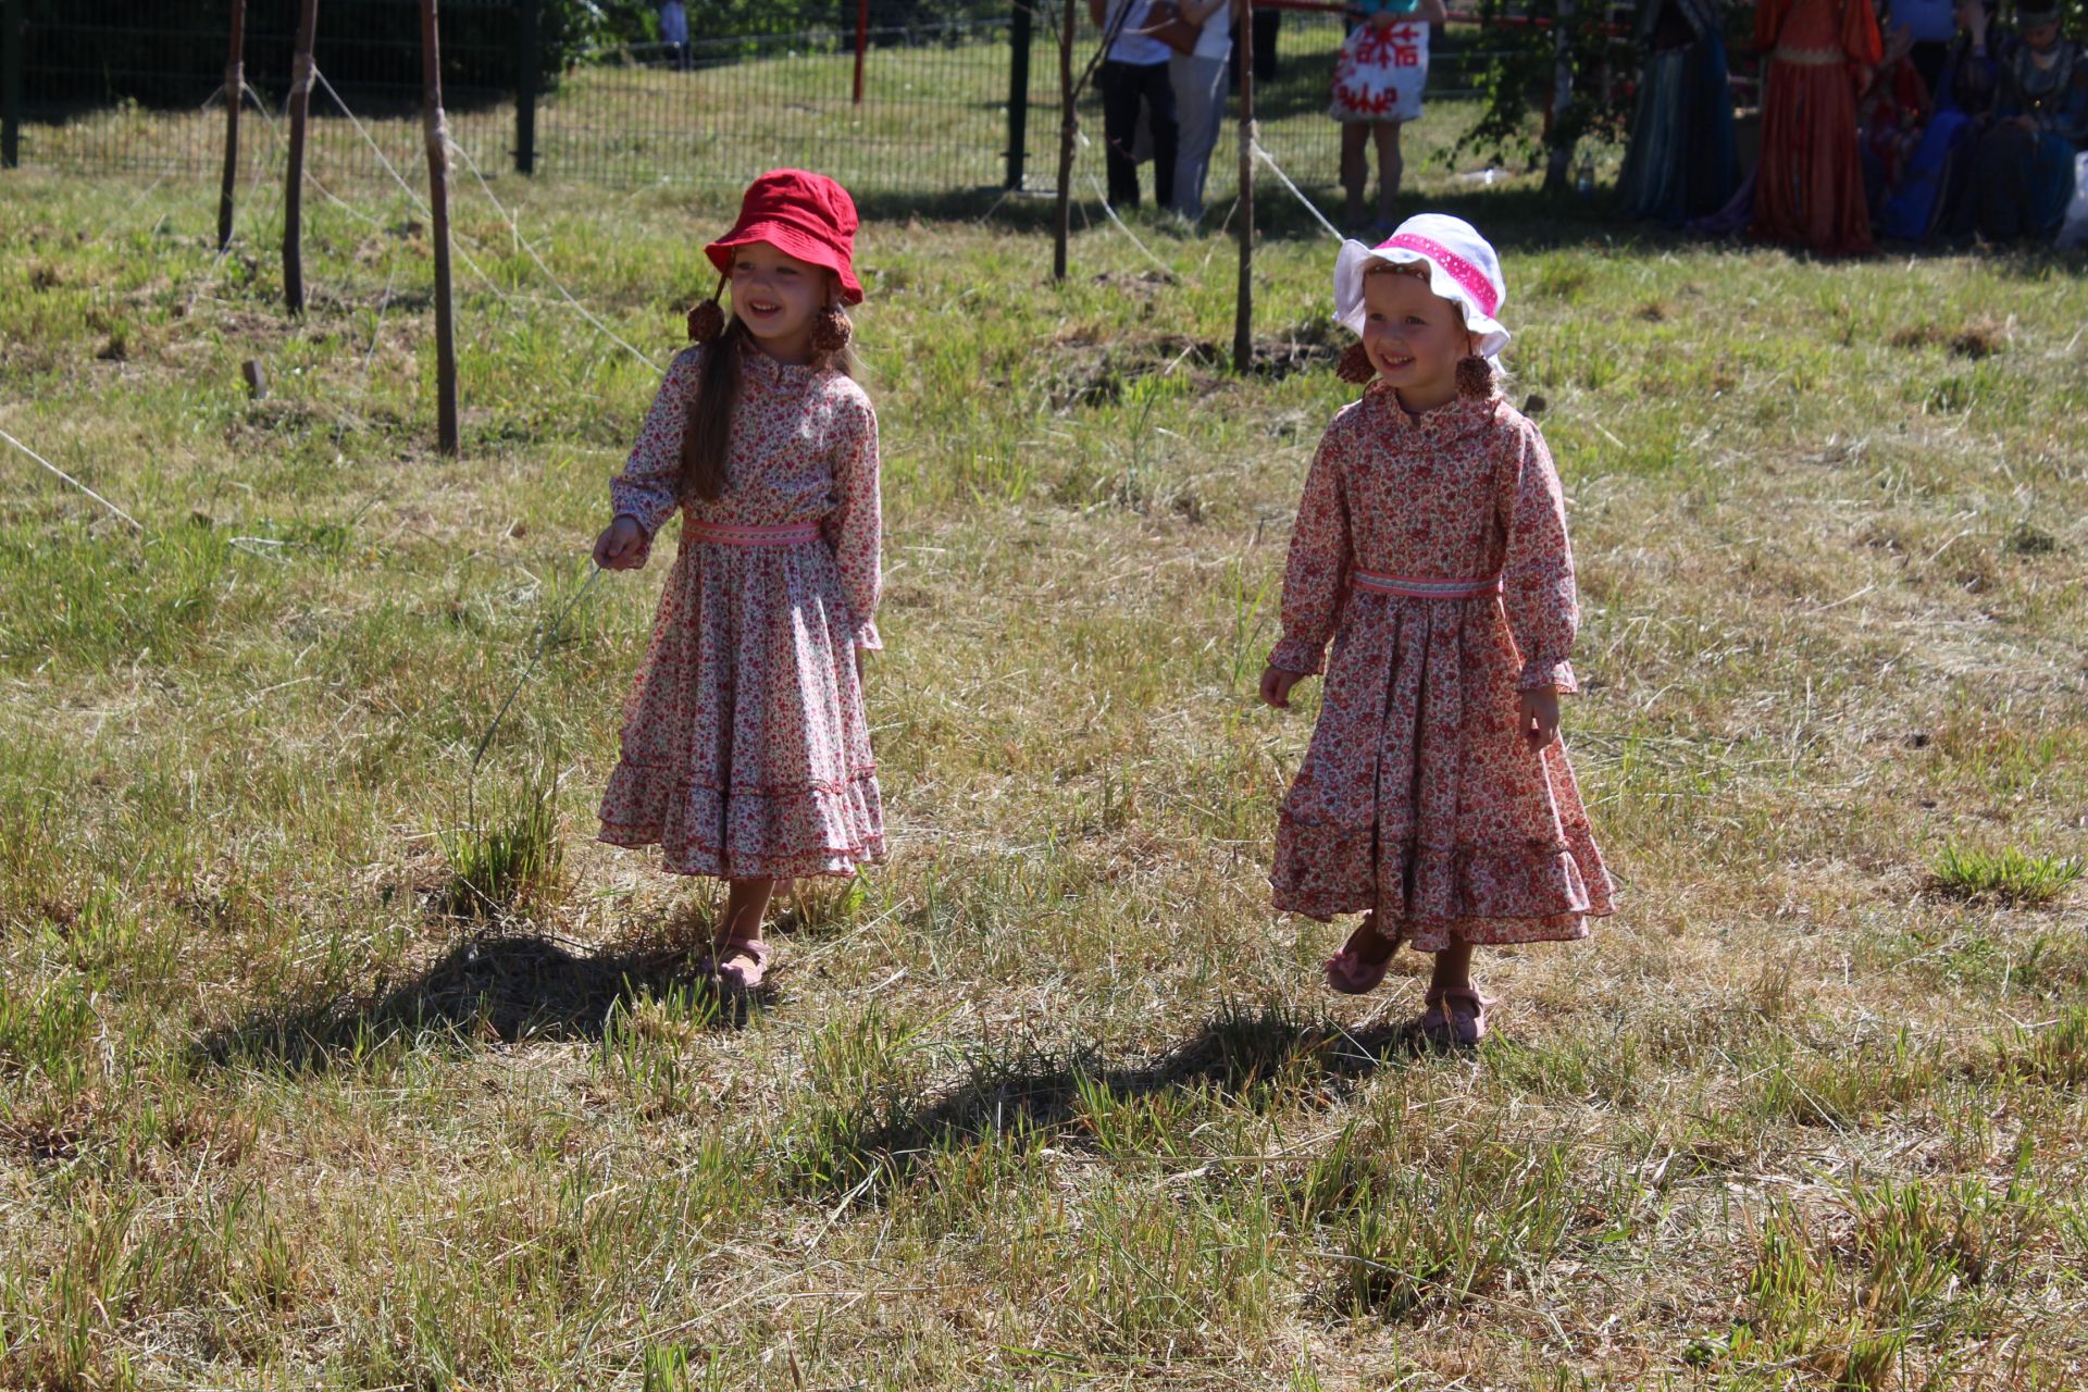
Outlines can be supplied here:
M798 169L758 177L706 248L722 280L689 313L595 561L635 570L677 509L681 549L624 703L601 839L658 845L731 885L704 968L748 989L762 916L800 874L883 858L860 653L877 637L877 413L844 305L856 205ZM731 286L727 319L718 294Z

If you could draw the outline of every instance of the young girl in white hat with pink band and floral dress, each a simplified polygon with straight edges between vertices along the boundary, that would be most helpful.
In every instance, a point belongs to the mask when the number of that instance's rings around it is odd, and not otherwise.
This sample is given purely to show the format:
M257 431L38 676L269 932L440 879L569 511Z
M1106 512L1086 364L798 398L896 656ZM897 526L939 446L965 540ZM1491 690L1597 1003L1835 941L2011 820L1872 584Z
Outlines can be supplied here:
M1326 670L1284 799L1276 908L1363 920L1326 964L1370 991L1399 943L1434 954L1418 1027L1476 1043L1480 943L1587 937L1610 877L1558 737L1579 601L1543 436L1497 392L1493 246L1439 213L1345 242L1340 376L1368 382L1320 440L1261 699ZM1332 659L1328 659L1332 641Z

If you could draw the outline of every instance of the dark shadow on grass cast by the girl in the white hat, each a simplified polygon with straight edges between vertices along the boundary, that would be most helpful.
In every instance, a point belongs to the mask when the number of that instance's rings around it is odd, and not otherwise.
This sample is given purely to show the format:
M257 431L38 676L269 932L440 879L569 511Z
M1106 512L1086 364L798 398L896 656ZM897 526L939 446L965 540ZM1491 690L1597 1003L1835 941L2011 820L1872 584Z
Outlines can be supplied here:
M971 1058L940 1096L827 1117L816 1144L800 1154L798 1179L825 1192L887 1190L935 1150L1004 1135L1092 1148L1088 1112L1098 1098L1125 1104L1190 1091L1253 1110L1334 1104L1380 1069L1407 1066L1424 1052L1426 1043L1399 1025L1349 1031L1326 1016L1236 1004L1148 1060L1111 1062L1092 1048L990 1052Z

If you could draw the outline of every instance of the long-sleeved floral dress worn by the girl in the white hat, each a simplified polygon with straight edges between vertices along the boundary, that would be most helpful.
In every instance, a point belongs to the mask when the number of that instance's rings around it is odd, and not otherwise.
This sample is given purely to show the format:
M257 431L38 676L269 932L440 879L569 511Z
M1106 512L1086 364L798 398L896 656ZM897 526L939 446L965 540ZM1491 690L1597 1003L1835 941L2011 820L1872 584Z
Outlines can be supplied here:
M1470 599L1378 580L1495 574ZM1564 745L1533 751L1516 722L1518 691L1576 691L1572 551L1537 426L1499 399L1414 417L1372 384L1305 480L1282 626L1276 668L1334 651L1276 831L1276 906L1376 910L1422 952L1587 937L1610 877Z

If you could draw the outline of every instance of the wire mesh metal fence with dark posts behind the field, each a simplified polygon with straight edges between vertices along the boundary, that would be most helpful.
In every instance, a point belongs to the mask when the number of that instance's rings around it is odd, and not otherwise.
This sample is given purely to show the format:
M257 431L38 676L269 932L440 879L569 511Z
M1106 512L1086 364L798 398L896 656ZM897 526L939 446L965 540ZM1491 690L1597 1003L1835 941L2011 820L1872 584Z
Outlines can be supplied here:
M1075 0L1077 4L1079 0ZM190 8L111 21L92 8L0 0L8 163L81 173L213 175L221 161L226 29ZM257 6L261 8L261 6ZM1057 169L1057 33L1011 4L994 19L806 29L704 40L691 4L685 48L624 44L547 61L537 0L445 0L441 46L451 140L489 175L547 171L612 186L739 186L777 165L833 173L858 192L1044 188ZM1084 6L1082 6L1084 8ZM276 129L290 77L292 6L248 19L251 98ZM422 157L420 50L411 0L319 8L307 167L319 179L409 169ZM1343 27L1284 13L1274 73L1257 81L1263 144L1301 179L1326 184L1338 134L1326 119ZM1476 31L1437 42L1430 94L1472 86ZM1082 15L1082 54L1096 35ZM1242 44L1244 48L1244 44ZM353 113L353 117L349 115ZM1100 175L1100 102L1082 104L1077 179ZM278 140L248 134L259 177ZM1226 142L1230 150L1230 138ZM1213 194L1230 190L1213 161ZM411 175L409 175L411 177Z

